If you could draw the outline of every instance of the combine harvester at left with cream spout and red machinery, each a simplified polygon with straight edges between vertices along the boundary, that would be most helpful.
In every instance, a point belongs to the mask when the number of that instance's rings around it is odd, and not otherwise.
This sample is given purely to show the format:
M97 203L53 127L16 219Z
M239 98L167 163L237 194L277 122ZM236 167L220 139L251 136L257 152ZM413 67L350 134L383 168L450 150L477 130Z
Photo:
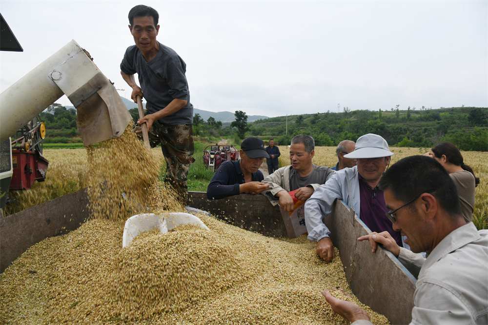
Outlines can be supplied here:
M121 136L132 120L117 90L89 53L70 41L0 94L0 208L8 200L10 182L16 177L14 168L19 168L17 178L30 183L17 184L15 189L29 188L34 179L43 180L48 164L42 150L36 150L37 158L24 154L12 161L10 137L23 129L25 132L13 143L20 144L20 151L34 154L26 143L39 149L36 139L45 132L35 118L63 95L77 110L77 127L85 146Z

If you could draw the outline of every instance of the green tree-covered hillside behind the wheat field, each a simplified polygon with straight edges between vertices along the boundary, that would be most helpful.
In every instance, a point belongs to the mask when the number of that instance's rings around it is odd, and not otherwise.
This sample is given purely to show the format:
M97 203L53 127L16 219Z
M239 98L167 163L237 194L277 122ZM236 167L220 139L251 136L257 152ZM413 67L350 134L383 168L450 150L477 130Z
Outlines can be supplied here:
M130 109L137 121L137 108ZM218 142L228 139L240 144L249 136L263 140L273 137L278 144L289 144L298 134L308 134L318 146L335 146L345 139L357 140L367 133L376 133L386 139L390 146L432 147L439 142L449 141L464 151L488 151L488 108L453 107L431 109L408 107L400 110L399 105L389 111L357 110L344 107L343 112L290 115L247 122L243 111L235 112L236 121L222 123L213 117L204 121L196 114L193 134L202 142ZM76 127L76 110L52 104L41 113L46 124L45 144L81 143Z

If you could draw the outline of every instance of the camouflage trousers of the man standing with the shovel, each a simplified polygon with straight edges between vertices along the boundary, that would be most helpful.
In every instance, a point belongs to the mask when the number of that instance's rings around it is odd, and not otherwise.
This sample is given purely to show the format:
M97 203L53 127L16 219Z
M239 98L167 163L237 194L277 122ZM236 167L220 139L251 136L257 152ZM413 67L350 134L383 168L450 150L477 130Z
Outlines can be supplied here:
M136 124L134 129L139 128ZM186 205L188 198L188 171L190 164L195 162L193 153L193 127L191 124L164 125L154 121L149 130L149 142L154 148L161 143L164 160L166 161L165 183L171 184ZM141 135L139 133L139 135ZM142 137L142 135L141 135Z

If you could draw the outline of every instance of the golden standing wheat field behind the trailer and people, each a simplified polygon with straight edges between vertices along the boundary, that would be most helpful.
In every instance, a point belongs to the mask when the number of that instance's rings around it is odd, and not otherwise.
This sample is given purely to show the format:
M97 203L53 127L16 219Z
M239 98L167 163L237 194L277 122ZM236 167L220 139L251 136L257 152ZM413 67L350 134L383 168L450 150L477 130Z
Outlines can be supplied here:
M280 166L290 164L288 147L279 146L282 155ZM429 148L390 148L394 155L391 163L413 155L423 155ZM335 147L315 147L312 162L321 166L334 166L337 163ZM160 148L153 148L153 154L164 164L163 153ZM488 152L461 151L464 161L470 165L480 184L476 187L476 204L474 206L473 222L478 229L488 229ZM87 186L87 155L85 149L44 149L44 157L49 161L46 181L35 182L28 191L12 191L10 196L17 202L7 205L5 215L9 215L28 207L47 202L62 195L72 193ZM199 153L195 153L196 159Z

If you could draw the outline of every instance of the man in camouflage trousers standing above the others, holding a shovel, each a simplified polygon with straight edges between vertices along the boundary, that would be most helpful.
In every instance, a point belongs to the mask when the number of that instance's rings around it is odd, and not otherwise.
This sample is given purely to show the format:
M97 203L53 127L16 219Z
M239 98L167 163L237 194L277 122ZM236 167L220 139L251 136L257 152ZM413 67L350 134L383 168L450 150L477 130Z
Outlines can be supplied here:
M129 30L135 45L125 51L122 78L132 88L131 99L146 99L149 114L137 121L159 137L166 161L165 182L170 183L186 203L190 164L195 160L193 144L193 105L190 103L186 63L171 48L156 41L159 14L145 5L129 11ZM138 74L139 87L134 79ZM140 133L141 131L137 131Z

